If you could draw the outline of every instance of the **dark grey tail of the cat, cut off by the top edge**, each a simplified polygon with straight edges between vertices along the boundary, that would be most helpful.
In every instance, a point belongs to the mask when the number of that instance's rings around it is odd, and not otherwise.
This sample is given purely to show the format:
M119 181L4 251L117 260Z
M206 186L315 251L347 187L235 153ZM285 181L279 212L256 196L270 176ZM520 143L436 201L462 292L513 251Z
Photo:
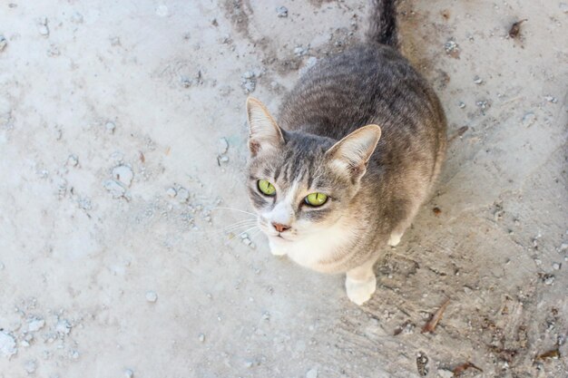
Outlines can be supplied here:
M396 0L371 0L370 3L371 13L366 34L368 42L397 48Z

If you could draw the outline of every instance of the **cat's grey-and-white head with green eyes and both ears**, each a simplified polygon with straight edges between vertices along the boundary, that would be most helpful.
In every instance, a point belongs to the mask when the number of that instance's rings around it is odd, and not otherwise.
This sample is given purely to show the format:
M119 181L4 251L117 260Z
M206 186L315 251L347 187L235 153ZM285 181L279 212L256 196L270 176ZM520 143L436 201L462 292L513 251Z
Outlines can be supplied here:
M367 125L334 141L280 129L258 100L249 98L247 112L248 189L262 231L294 241L346 215L377 146L380 128Z

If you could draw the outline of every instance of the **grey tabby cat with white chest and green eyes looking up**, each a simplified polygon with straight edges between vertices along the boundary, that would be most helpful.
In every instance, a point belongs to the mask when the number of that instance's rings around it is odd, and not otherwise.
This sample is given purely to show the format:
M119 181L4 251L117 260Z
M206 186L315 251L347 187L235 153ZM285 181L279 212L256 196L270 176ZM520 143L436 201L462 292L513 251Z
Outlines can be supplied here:
M319 60L285 96L279 121L254 98L248 194L274 255L346 273L348 298L375 292L373 266L397 246L446 153L436 93L397 51L394 0L371 1L365 40Z

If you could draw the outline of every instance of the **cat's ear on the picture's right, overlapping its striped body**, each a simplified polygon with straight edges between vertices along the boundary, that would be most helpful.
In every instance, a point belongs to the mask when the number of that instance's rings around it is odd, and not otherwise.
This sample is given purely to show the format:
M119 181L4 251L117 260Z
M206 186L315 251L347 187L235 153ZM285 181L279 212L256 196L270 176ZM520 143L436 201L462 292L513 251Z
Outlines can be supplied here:
M363 126L334 144L326 155L337 170L347 173L353 182L361 179L367 163L377 147L381 129L377 125Z

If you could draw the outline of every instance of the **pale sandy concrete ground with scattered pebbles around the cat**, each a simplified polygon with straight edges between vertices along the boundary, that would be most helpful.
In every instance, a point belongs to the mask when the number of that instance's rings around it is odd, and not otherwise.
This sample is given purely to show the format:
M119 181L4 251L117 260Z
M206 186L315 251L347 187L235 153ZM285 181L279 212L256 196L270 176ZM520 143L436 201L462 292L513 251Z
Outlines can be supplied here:
M276 111L365 1L2 2L0 377L566 377L568 5L399 12L451 145L359 308L215 208L250 210L247 93Z

